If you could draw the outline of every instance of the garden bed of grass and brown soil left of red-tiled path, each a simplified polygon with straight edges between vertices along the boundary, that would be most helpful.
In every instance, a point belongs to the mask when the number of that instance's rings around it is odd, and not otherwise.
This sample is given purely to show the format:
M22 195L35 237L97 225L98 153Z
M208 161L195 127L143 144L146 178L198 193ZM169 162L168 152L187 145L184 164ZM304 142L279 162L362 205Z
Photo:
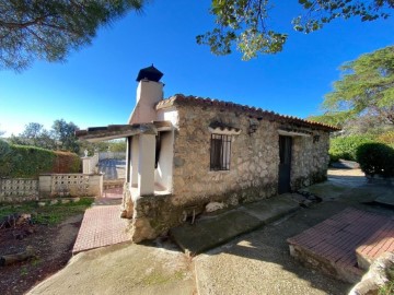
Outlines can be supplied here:
M25 294L34 285L67 264L71 258L83 211L88 205L89 202L82 201L76 204L45 208L37 208L36 204L0 206L0 217L11 211L34 213L32 224L0 229L0 256L23 252L27 247L35 250L34 258L0 266L2 295Z

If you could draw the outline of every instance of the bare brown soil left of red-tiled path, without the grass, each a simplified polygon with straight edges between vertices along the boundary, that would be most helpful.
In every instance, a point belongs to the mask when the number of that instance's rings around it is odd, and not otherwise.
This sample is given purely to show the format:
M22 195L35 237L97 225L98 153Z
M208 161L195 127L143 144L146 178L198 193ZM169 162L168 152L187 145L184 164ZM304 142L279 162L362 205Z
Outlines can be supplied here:
M23 239L14 237L15 231L0 232L0 253L15 253L32 246L37 252L33 260L0 267L2 295L25 294L31 287L62 269L71 258L82 215L69 217L56 226L34 225L34 233Z

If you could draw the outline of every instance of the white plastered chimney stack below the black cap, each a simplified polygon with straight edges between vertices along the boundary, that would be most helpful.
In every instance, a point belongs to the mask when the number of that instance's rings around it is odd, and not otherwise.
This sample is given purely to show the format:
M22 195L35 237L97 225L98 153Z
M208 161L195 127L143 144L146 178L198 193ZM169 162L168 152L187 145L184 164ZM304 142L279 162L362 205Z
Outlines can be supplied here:
M129 123L151 122L157 119L154 105L163 99L163 83L141 80L137 87L136 107Z

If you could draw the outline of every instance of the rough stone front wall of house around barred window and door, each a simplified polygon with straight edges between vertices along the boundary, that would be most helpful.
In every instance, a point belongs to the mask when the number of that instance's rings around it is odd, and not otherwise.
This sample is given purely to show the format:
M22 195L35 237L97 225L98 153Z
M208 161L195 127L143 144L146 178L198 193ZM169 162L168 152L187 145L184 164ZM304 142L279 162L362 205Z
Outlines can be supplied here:
M174 144L174 203L223 201L242 202L277 194L279 175L278 129L297 130L245 114L216 107L178 106L178 130ZM232 135L231 164L228 172L210 170L212 121L240 128ZM257 125L250 134L251 123ZM305 128L302 129L305 131ZM328 165L328 132L306 129L308 137L293 137L291 188L293 190L324 180ZM318 135L318 140L316 140Z

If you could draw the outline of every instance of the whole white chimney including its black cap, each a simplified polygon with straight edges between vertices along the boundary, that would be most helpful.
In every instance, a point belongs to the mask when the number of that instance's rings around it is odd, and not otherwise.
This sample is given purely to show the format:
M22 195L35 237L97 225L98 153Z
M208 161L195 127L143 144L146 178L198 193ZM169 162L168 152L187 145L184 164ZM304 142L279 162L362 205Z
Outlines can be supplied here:
M139 71L136 107L131 113L129 123L144 123L155 120L154 106L163 99L164 84L160 82L163 73L153 64Z

